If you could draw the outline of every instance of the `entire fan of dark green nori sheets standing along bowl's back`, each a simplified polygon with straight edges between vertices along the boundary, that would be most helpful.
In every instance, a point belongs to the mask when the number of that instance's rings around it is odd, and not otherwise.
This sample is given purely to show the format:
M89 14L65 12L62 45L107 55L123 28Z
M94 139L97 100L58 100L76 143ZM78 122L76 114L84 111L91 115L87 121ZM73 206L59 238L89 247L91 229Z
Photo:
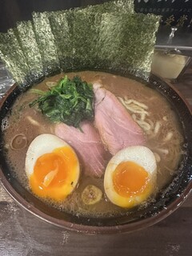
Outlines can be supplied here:
M33 13L32 22L0 34L0 56L20 84L61 70L147 75L159 17L135 14L133 2Z

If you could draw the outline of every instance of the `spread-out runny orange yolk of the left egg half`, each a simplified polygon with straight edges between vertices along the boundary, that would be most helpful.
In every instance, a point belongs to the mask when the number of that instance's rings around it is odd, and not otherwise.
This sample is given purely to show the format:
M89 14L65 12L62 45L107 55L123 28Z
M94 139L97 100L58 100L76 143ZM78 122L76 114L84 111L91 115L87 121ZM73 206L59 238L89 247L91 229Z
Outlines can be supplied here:
M78 158L69 146L63 146L37 159L30 187L39 197L59 201L70 194L77 177Z

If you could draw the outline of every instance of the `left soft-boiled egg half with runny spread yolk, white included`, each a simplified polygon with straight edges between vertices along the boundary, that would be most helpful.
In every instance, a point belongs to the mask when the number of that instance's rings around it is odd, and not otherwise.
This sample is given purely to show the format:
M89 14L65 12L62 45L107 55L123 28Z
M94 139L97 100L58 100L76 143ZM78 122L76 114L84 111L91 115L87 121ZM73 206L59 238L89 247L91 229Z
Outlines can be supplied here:
M34 138L26 153L30 189L40 198L65 199L78 184L80 167L71 146L52 134Z

